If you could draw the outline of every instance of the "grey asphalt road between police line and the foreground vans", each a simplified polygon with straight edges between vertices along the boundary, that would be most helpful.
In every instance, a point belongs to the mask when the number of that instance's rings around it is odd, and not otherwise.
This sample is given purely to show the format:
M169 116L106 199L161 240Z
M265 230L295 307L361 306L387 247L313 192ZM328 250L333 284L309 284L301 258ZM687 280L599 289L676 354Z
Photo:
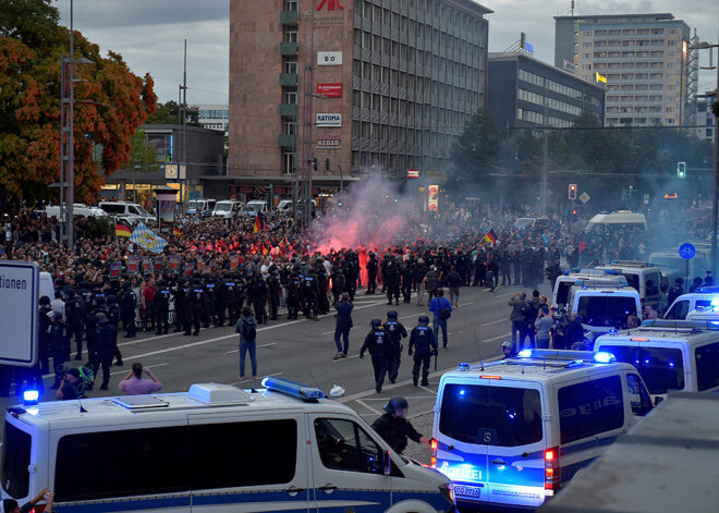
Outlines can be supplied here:
M461 289L460 306L448 321L449 346L441 349L440 343L438 370L430 374L428 387L412 384L412 358L406 354L405 340L397 383L386 381L382 392L376 393L370 358L360 359L358 356L369 331L369 320L375 317L385 320L387 312L395 309L400 321L410 331L416 326L417 317L428 310L427 306L417 306L414 294L411 305L400 303L399 306L390 307L385 296L365 295L363 289L354 302L354 328L350 333L350 355L346 358L332 359L337 353L332 314L321 316L319 321L270 321L257 330L258 381L265 376L282 376L317 386L326 393L329 393L332 386L339 384L345 390L345 395L338 401L354 408L369 424L381 415L382 405L389 398L404 395L410 402L409 417L415 428L430 437L439 377L461 362L475 363L480 358L489 361L501 355L501 343L510 335L508 302L517 291L529 292L526 288L514 285L499 286L493 293L486 288ZM549 283L541 283L539 291L548 295ZM284 317L281 315L281 318ZM121 333L118 341L125 365L111 367L110 390L100 391L96 388L90 393L93 398L121 394L118 382L136 361L155 371L164 386L163 392L186 391L192 383L210 381L241 388L251 386L249 380L239 378L239 335L234 333L234 327L203 329L198 337L184 337L182 333L156 335L148 331L138 332L136 339L124 339ZM46 377L45 383L46 391L41 400L53 401L54 390L50 390L52 378ZM16 396L2 398L0 406L4 410L19 402ZM427 445L410 442L406 454L422 462L429 460Z

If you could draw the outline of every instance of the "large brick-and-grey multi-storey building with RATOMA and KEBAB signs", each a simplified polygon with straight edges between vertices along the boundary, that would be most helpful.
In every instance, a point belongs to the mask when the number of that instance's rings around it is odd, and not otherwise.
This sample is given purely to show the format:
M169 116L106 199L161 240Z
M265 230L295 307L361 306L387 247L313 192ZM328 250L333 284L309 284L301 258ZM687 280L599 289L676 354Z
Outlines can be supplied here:
M490 12L472 0L231 0L228 175L278 185L313 159L318 187L341 172L441 174L486 105Z

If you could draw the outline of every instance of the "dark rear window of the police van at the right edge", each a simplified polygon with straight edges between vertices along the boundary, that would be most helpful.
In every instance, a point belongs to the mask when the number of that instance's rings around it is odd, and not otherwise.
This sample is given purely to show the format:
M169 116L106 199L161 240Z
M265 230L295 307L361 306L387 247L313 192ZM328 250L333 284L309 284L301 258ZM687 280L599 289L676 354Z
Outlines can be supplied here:
M619 362L636 367L649 393L684 388L684 358L679 349L602 345L601 350L612 353Z

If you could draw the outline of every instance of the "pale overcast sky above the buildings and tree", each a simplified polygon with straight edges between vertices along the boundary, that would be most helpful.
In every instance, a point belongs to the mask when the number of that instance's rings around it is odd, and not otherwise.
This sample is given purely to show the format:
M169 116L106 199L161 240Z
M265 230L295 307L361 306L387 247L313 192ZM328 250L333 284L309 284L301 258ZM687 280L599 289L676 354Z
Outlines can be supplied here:
M236 0L255 1L255 0ZM346 3L352 0L344 0ZM61 23L70 26L71 0L54 0ZM570 13L570 0L491 0L479 2L488 14L489 51L503 51L527 34L534 57L555 61L555 15ZM73 21L92 42L120 53L130 69L155 78L159 101L178 100L182 83L184 40L187 39L187 102L227 103L230 0L74 0ZM670 12L697 29L702 40L717 42L716 0L592 0L575 2L575 15ZM279 16L279 14L278 14ZM702 65L708 51L700 52ZM715 64L718 59L715 52ZM716 72L702 72L699 94L716 87Z

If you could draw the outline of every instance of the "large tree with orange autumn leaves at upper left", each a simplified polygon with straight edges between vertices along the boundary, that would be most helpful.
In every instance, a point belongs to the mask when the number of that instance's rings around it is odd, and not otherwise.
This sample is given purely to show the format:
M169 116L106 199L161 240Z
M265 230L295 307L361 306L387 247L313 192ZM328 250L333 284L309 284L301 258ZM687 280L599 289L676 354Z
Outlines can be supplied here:
M0 0L0 205L32 204L60 180L61 59L70 30L51 0ZM130 160L130 139L157 97L151 76L134 75L122 57L74 32L75 198L95 203L103 183ZM96 147L101 147L99 161Z

